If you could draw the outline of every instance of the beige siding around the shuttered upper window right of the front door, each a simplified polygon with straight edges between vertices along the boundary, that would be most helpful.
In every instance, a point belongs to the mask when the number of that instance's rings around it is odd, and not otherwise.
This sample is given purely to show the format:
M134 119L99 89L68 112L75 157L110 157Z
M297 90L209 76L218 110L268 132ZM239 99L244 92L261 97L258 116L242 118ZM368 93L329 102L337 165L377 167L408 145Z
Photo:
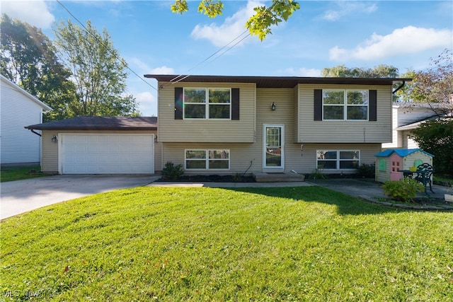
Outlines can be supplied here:
M315 121L314 89L377 90L377 121ZM391 141L391 86L299 84L298 137L305 143L383 143Z

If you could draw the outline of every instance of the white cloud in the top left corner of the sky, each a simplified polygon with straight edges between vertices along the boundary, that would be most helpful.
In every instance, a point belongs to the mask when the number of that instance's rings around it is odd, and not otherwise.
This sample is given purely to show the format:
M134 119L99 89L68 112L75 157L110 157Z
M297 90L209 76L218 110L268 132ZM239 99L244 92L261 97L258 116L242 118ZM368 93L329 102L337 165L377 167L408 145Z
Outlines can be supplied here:
M50 28L55 17L50 13L45 1L1 1L1 13L17 18L37 28Z

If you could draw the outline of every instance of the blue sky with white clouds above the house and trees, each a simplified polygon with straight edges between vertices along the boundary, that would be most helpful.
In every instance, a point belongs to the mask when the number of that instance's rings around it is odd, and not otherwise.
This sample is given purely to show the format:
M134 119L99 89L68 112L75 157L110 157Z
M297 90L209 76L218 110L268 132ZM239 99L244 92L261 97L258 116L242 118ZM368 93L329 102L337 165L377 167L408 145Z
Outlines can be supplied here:
M253 7L270 1L223 1L224 13L172 13L173 1L0 1L1 13L35 25L51 40L55 23L105 28L130 67L127 93L143 116L157 115L157 83L144 74L321 76L323 68L387 64L423 70L453 49L453 1L306 1L264 41L248 36ZM244 33L245 32L245 33ZM136 75L137 74L137 75Z

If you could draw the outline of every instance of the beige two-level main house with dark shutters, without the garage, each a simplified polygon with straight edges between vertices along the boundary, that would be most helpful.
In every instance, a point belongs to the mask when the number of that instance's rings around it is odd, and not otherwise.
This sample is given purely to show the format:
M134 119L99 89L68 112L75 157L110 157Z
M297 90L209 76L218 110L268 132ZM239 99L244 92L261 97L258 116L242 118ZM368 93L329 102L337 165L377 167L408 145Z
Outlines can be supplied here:
M176 76L158 81L162 163L186 174L353 173L391 142L411 79Z

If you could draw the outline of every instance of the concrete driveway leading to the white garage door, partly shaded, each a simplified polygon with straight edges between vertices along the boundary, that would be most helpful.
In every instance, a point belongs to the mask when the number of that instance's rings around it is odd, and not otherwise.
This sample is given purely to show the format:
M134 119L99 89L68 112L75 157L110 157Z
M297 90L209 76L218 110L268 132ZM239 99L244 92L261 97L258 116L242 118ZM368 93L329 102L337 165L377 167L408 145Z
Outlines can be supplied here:
M125 187L147 185L145 175L55 175L0 183L0 219L49 204Z

